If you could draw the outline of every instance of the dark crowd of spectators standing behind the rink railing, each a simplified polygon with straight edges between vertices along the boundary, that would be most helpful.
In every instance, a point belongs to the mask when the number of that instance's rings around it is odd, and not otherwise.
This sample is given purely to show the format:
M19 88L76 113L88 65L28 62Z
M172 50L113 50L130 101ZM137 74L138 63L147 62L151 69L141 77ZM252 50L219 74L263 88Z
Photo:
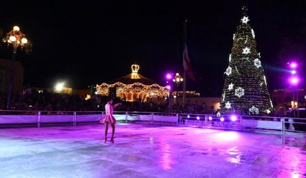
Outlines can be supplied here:
M107 97L94 96L86 100L85 97L78 95L49 93L38 90L23 90L22 92L12 94L9 110L19 111L104 111ZM0 110L7 109L8 94L0 93ZM169 112L169 103L167 102L144 102L136 100L134 102L118 101L122 105L118 106L116 111L139 111L139 112ZM173 104L174 113L198 113L212 114L214 110L208 109L205 103L186 105Z

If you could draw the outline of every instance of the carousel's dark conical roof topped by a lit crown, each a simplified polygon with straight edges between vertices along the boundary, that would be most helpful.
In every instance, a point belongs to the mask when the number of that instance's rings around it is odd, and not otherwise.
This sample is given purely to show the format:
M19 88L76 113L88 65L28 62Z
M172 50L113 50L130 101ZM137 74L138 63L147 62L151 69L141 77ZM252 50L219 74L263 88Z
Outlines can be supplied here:
M149 79L145 76L142 76L138 74L139 66L138 65L132 65L132 73L129 75L125 75L124 77L117 78L115 80L112 80L110 83L116 83L116 82L121 82L124 84L133 84L133 83L142 83L144 85L151 85L155 84L156 81Z

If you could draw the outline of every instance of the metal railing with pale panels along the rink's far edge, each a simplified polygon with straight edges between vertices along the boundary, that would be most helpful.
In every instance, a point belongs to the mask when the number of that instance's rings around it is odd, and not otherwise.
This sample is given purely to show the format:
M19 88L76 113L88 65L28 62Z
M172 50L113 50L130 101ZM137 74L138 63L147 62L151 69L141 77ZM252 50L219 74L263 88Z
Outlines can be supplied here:
M0 126L98 123L105 111L16 111L0 110ZM211 115L164 112L115 111L118 122L170 124L176 126L243 131L281 131L306 133L306 118L248 115Z

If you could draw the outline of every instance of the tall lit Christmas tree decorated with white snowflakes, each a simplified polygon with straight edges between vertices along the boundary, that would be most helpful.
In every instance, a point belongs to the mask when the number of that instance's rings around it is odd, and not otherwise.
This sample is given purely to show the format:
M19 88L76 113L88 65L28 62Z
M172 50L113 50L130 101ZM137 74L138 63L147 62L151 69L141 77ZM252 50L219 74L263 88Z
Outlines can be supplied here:
M268 92L255 34L243 7L241 24L233 36L230 63L224 72L225 83L220 102L221 114L269 114L272 101Z

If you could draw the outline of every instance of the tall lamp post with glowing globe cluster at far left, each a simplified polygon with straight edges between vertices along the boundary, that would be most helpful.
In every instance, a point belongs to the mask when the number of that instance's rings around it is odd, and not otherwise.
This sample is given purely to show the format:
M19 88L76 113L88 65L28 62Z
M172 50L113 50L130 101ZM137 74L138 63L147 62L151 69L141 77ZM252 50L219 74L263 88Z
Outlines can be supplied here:
M12 87L13 87L13 80L14 80L14 72L15 72L15 58L16 58L16 51L17 47L20 46L21 49L23 47L27 47L29 44L27 38L25 38L25 35L19 31L18 26L14 26L12 31L7 33L7 36L3 38L2 40L5 43L8 43L8 45L12 44L13 46L13 56L12 56L12 69L11 69L11 76L10 76L10 84L9 84L9 96L8 96L8 103L7 103L7 110L10 109L11 104L11 95L12 95Z

